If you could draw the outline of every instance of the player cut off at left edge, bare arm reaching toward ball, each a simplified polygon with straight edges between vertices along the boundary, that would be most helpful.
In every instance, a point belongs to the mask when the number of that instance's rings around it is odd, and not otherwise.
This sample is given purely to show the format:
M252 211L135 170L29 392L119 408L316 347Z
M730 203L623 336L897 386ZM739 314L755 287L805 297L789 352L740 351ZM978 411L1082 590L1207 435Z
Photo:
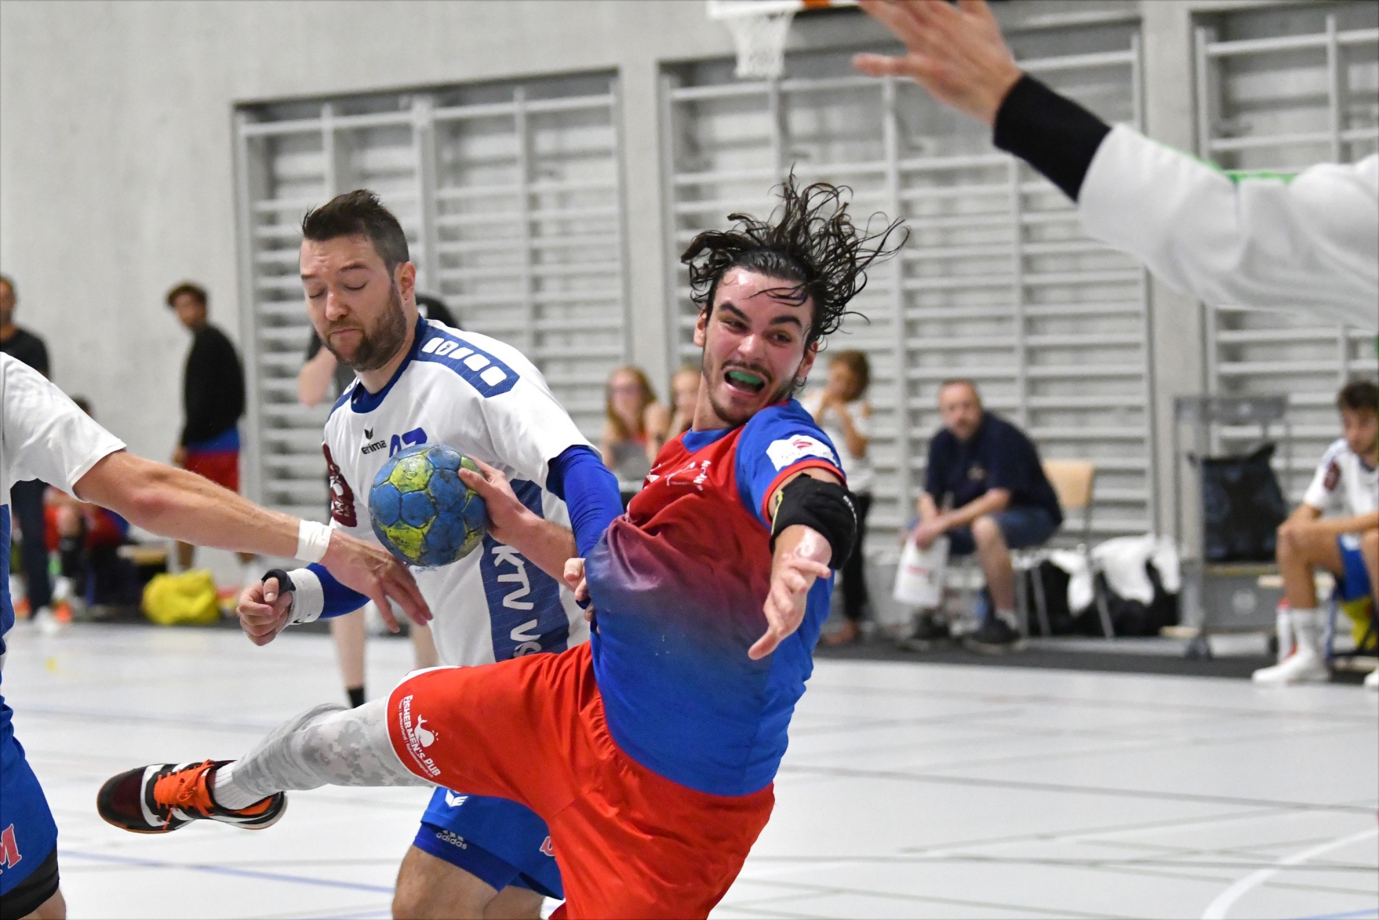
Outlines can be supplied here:
M324 561L341 581L383 604L396 597L414 619L427 619L411 575L382 548L258 508L194 473L132 457L37 371L0 354L0 668L4 636L14 626L10 506L3 499L12 483L34 477L163 537ZM255 828L277 821L281 806L207 814ZM66 914L57 836L39 779L14 737L12 710L0 695L0 916Z

